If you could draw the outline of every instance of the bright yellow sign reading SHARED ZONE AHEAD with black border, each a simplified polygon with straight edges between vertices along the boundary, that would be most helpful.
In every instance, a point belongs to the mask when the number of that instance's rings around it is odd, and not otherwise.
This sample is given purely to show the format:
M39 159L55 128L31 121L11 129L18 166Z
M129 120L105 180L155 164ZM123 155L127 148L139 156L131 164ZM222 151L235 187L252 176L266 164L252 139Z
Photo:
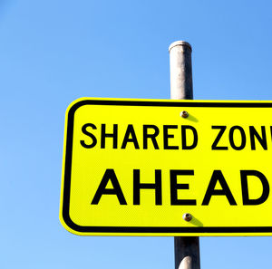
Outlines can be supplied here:
M76 235L272 235L271 119L271 101L73 101L63 226Z

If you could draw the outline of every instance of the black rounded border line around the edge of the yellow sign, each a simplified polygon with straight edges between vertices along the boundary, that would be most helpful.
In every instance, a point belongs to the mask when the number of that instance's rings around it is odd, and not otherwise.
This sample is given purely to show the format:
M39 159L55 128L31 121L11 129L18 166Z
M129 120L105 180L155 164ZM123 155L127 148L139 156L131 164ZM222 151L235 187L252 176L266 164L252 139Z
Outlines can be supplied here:
M64 182L63 182L63 221L73 231L79 233L107 233L109 234L239 234L239 233L271 233L272 226L221 226L221 227L144 227L144 226L79 226L73 222L69 214L71 170L73 155L73 119L77 109L84 105L108 105L108 106L154 106L154 107L206 107L206 108L271 108L271 102L232 102L232 101L129 101L129 100L81 100L73 104L68 111L67 133L65 147Z

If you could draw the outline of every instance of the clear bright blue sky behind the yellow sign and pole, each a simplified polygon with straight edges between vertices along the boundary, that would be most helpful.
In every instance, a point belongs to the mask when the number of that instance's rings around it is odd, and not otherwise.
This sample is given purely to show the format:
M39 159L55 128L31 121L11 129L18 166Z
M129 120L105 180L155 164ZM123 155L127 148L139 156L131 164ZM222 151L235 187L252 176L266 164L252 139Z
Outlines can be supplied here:
M271 1L0 0L0 268L174 268L172 237L81 237L59 222L66 107L169 99L170 43L196 100L272 100ZM265 216L263 216L265 217ZM201 237L201 268L270 268L271 237Z

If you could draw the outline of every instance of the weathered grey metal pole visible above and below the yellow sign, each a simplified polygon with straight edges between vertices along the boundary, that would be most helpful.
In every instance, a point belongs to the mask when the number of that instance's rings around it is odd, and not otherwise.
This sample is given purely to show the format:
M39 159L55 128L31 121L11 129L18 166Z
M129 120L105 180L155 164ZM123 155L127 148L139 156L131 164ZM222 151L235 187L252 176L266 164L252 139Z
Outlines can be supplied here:
M193 99L190 44L171 43L169 52L171 99ZM200 269L199 237L176 236L174 240L175 269Z

